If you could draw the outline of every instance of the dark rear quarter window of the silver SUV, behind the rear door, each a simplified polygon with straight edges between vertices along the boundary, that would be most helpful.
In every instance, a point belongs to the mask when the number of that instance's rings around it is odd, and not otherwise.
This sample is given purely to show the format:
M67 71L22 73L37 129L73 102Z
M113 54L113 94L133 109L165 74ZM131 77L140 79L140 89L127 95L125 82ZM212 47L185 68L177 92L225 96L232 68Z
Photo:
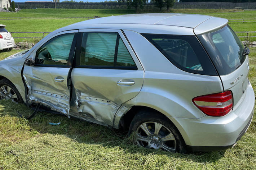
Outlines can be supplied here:
M217 75L211 60L195 36L142 35L181 70L195 74Z

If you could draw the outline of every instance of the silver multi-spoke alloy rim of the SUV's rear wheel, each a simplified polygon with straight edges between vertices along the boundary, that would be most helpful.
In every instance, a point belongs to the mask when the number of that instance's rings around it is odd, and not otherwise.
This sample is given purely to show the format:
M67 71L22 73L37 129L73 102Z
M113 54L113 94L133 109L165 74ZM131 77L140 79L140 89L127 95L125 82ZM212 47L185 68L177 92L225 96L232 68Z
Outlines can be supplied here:
M139 146L153 149L176 151L176 140L172 132L157 122L142 123L136 130L136 142Z

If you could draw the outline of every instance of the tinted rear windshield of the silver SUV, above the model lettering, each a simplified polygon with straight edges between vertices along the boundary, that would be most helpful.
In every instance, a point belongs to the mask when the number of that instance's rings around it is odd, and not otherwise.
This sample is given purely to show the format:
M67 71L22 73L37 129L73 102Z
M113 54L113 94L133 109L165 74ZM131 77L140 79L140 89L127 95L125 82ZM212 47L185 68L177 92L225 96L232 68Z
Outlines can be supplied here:
M220 75L233 72L243 64L246 58L243 55L242 42L229 26L216 32L199 35L198 38Z

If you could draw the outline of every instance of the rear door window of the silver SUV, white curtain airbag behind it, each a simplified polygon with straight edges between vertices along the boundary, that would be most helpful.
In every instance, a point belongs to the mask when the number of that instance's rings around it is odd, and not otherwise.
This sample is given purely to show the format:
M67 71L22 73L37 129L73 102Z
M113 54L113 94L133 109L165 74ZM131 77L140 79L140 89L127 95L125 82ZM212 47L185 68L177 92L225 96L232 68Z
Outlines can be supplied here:
M92 68L136 68L117 32L83 33L79 65Z

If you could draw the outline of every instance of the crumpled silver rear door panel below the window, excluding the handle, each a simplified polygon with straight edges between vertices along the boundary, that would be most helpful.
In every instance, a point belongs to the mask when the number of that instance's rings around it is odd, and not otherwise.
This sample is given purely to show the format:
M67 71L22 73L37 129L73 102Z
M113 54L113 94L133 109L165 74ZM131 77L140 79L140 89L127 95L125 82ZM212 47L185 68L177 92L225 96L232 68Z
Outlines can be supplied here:
M75 100L71 102L70 114L113 126L119 107L140 92L143 76L143 70L72 69ZM119 86L117 83L122 79L132 79L135 83Z

